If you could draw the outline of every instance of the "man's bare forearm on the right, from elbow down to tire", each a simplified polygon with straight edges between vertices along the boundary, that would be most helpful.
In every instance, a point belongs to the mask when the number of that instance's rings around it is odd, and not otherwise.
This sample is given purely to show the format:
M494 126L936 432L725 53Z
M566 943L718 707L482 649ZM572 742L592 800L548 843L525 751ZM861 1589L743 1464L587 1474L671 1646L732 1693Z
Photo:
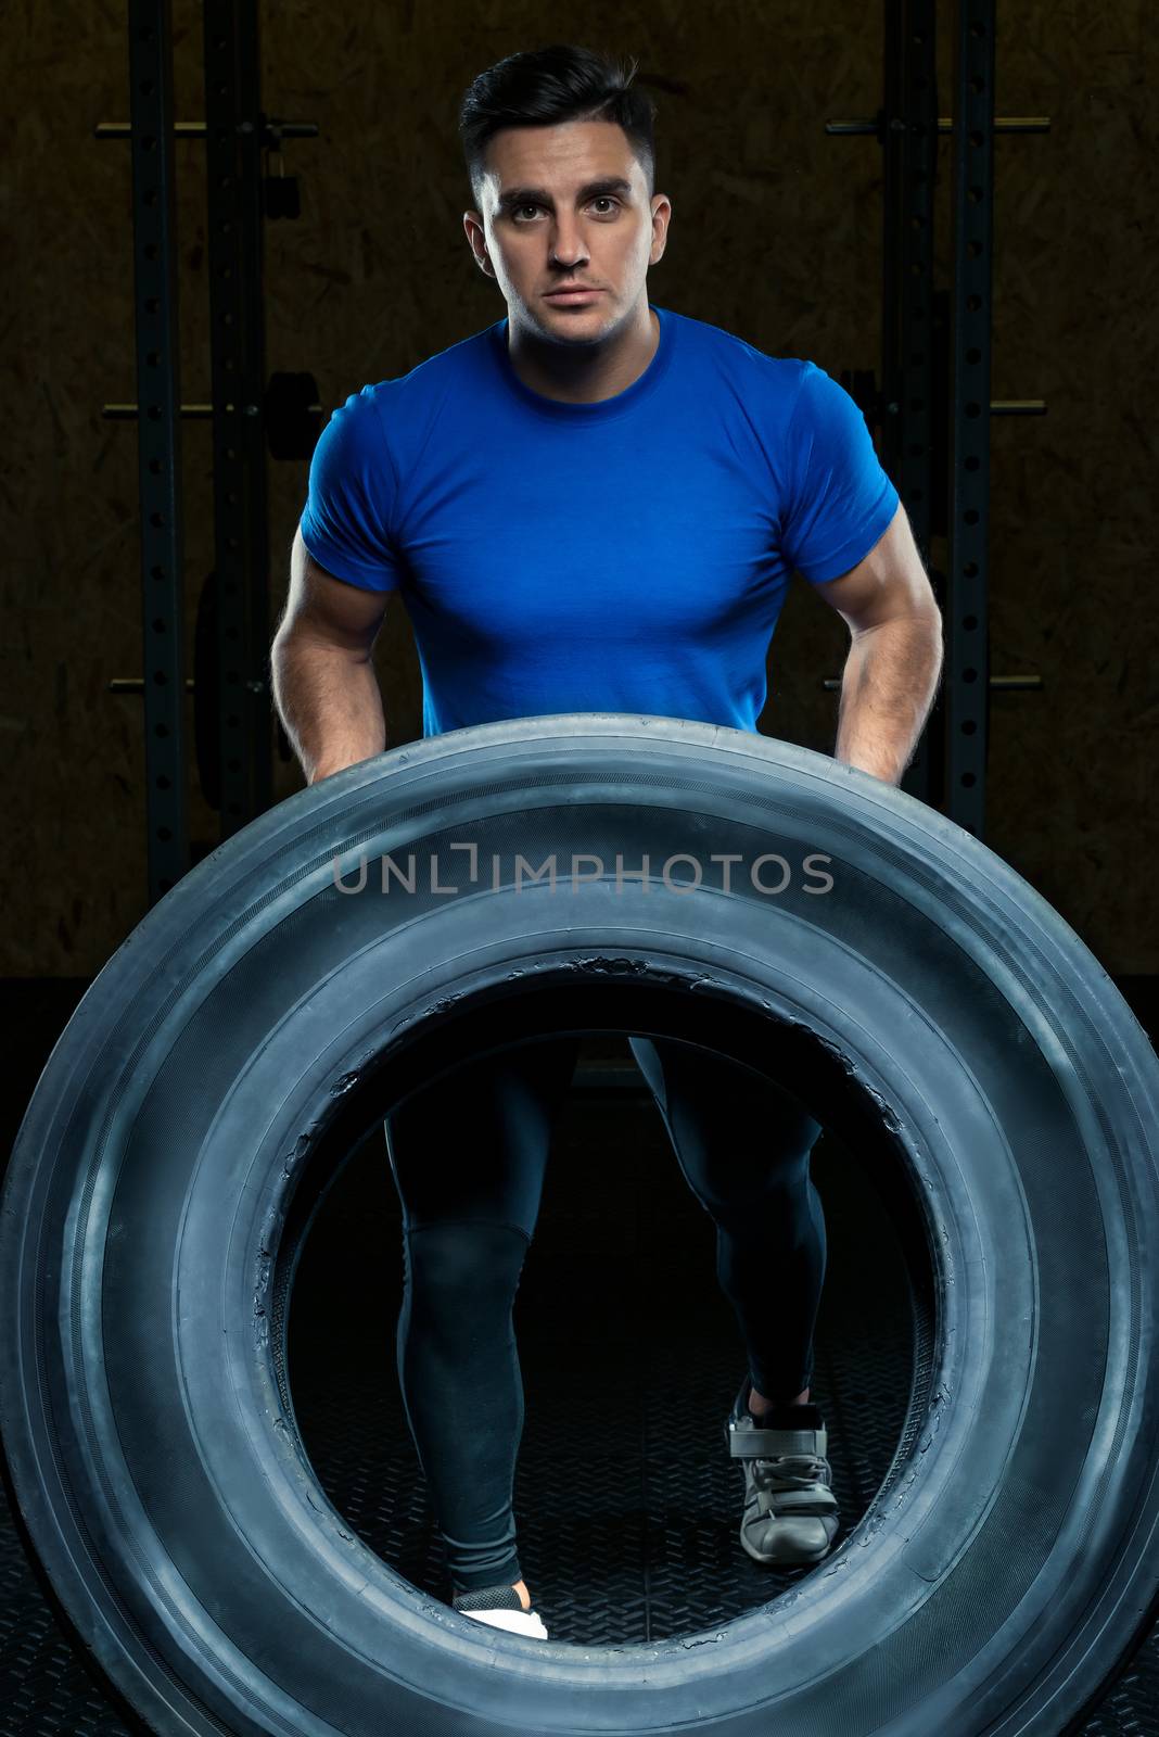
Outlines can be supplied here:
M833 757L900 783L942 674L942 617L899 615L857 634L841 676Z

